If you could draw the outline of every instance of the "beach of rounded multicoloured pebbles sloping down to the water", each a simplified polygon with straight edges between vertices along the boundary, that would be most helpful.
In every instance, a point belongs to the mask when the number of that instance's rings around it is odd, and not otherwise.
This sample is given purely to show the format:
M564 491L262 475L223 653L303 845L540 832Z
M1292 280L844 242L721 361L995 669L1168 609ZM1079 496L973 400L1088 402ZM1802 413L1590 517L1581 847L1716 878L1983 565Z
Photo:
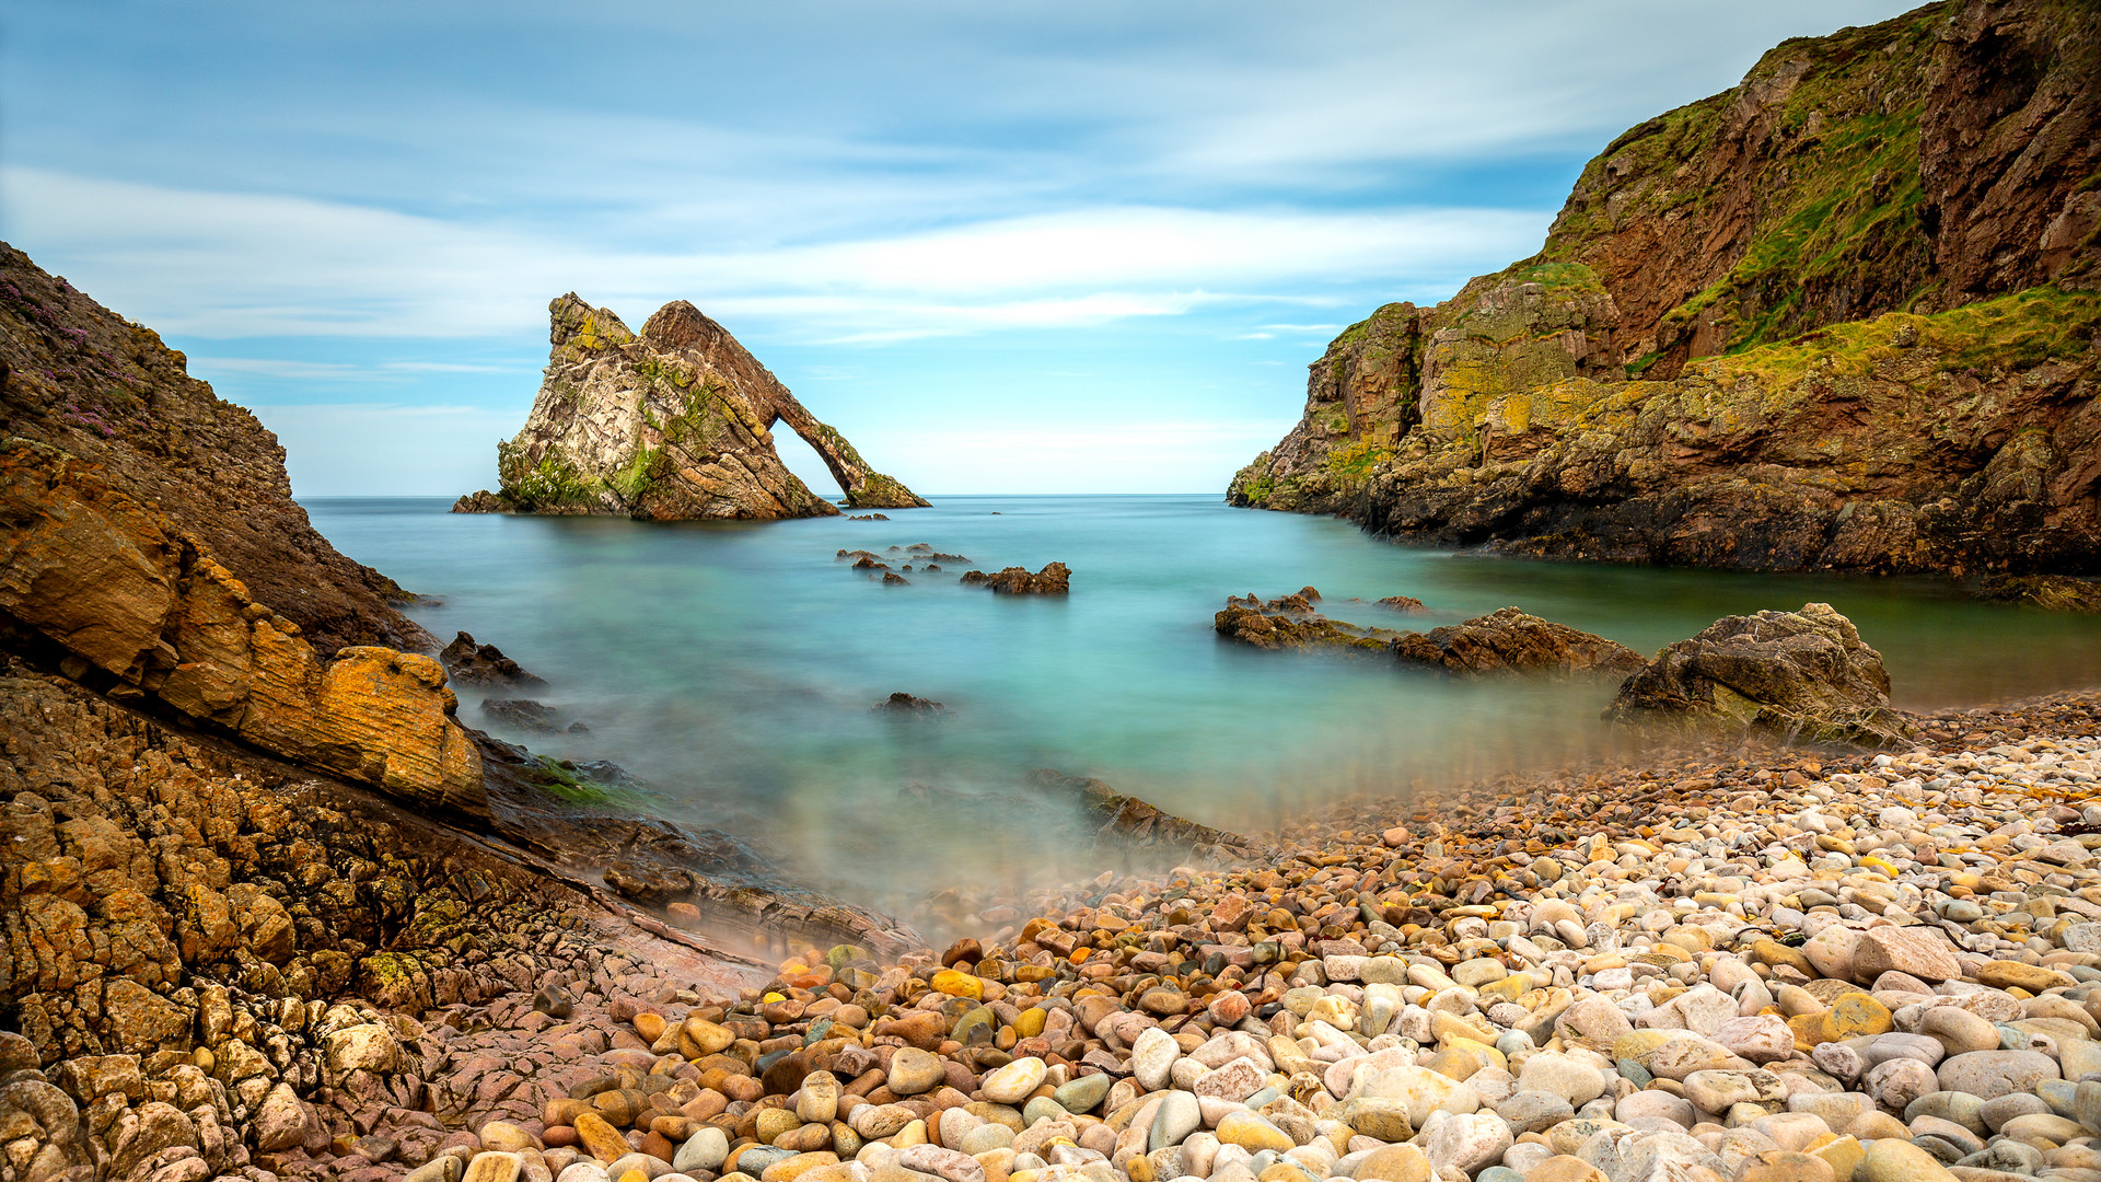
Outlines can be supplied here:
M1273 864L971 900L979 934L939 955L805 949L740 991L607 959L422 1024L338 1007L326 1071L416 1047L445 1127L258 1165L2084 1182L2097 721L2069 694L1929 717L1908 753L1698 749L1364 801Z

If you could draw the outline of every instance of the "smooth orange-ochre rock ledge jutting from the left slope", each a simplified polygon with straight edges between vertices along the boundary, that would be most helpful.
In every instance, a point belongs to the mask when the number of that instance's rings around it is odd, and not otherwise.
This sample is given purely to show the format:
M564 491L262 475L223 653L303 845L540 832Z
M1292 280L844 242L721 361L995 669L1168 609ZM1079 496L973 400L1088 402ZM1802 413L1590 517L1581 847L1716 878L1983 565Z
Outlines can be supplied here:
M420 806L485 812L481 757L437 660L376 646L321 658L99 465L0 442L0 608L97 688Z

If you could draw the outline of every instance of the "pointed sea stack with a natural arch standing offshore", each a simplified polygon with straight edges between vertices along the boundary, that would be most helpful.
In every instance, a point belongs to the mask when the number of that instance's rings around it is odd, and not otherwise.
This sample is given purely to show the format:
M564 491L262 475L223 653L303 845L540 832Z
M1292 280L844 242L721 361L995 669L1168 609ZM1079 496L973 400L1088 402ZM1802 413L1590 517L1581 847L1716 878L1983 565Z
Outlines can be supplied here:
M639 519L824 517L773 450L788 423L832 469L855 509L922 507L845 435L813 416L721 324L685 301L628 330L576 292L548 305L546 376L525 427L498 444L496 492L456 513L624 513Z

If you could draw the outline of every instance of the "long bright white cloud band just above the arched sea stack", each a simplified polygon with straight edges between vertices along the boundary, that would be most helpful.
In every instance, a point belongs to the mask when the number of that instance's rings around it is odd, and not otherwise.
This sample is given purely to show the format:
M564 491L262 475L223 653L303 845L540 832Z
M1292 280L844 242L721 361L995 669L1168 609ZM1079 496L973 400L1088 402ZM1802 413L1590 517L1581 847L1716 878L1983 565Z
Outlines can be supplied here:
M544 324L544 301L563 290L637 326L658 303L683 297L819 343L1065 328L1227 301L1332 303L1307 288L1336 276L1399 282L1483 252L1521 252L1548 219L1469 208L1093 206L826 244L632 252L582 236L42 168L0 170L0 191L11 233L67 259L80 286L137 320L206 339L500 337Z

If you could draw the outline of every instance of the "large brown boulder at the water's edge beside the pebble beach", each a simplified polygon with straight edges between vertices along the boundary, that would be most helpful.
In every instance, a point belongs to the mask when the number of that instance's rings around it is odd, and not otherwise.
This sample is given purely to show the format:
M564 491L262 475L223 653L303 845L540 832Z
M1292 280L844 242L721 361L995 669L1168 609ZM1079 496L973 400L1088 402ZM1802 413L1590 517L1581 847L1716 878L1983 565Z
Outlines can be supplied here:
M1882 654L1830 604L1714 620L1628 677L1605 717L1868 747L1914 734Z

